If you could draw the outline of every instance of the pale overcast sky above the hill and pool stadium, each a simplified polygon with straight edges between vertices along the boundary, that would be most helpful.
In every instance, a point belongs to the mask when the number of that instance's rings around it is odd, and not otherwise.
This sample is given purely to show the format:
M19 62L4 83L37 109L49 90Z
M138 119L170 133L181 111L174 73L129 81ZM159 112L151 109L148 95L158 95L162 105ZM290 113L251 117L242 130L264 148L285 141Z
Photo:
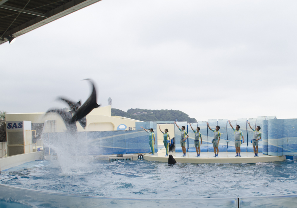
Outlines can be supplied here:
M0 110L84 102L297 118L296 1L103 0L0 45Z

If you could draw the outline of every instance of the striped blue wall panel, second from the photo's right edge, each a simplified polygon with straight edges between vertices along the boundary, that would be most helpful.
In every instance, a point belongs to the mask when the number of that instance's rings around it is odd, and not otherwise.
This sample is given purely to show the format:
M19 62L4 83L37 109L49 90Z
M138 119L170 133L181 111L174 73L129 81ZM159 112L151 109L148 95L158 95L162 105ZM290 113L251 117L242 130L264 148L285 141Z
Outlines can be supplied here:
M268 119L268 155L282 155L283 119Z

